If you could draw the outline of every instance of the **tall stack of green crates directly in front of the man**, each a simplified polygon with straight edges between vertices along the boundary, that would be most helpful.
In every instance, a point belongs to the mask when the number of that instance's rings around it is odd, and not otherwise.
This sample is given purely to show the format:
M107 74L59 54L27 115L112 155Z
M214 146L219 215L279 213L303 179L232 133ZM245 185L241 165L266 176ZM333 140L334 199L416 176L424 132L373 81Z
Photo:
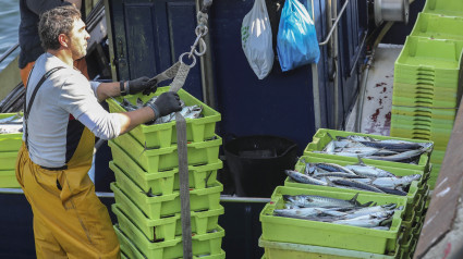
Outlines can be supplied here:
M125 99L146 102L169 90L159 88L151 96L134 95ZM219 226L222 184L217 171L221 138L215 134L220 113L185 90L179 91L186 106L203 107L203 116L186 119L190 207L194 258L219 259L224 230ZM108 100L111 112L125 111L122 97ZM179 156L175 122L139 125L108 143L112 152L109 168L114 172L111 183L118 218L114 225L125 258L181 258L183 255L179 183Z

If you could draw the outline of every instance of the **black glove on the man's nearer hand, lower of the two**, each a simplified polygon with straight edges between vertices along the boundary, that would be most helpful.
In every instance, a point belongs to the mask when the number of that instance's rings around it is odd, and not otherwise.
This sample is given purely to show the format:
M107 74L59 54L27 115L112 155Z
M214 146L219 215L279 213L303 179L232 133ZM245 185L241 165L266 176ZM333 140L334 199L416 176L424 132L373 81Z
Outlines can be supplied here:
M157 98L151 98L145 103L155 111L156 119L182 110L180 97L176 92L167 91Z

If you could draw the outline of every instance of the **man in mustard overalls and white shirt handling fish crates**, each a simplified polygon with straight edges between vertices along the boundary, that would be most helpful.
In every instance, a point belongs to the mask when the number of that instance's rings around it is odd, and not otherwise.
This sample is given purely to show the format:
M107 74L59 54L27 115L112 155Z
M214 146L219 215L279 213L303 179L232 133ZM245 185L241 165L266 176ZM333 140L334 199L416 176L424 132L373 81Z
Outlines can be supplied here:
M108 113L98 101L156 86L145 81L90 84L74 69L73 62L86 54L89 35L72 5L45 12L39 35L47 51L29 74L16 161L16 177L34 213L37 258L119 258L108 210L87 175L95 135L114 138L180 111L179 96L165 92L138 110Z

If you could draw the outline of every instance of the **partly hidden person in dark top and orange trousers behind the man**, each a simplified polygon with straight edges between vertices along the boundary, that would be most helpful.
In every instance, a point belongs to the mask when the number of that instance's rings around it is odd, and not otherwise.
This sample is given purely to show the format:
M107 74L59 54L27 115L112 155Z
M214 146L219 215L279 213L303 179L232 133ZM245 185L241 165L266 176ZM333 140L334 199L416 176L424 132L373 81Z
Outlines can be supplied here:
M27 84L27 76L34 66L35 60L44 53L38 36L38 21L40 13L62 5L74 4L81 9L82 0L20 0L20 60L21 79L24 86ZM88 78L87 64L85 59L75 62L75 66Z

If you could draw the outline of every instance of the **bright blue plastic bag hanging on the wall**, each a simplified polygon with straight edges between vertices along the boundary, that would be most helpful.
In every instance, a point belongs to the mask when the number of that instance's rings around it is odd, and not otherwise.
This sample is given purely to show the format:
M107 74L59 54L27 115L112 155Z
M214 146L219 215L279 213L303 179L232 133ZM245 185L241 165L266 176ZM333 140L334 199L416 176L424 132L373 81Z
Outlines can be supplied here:
M277 52L282 71L317 63L320 59L314 21L297 0L287 0L281 11Z

